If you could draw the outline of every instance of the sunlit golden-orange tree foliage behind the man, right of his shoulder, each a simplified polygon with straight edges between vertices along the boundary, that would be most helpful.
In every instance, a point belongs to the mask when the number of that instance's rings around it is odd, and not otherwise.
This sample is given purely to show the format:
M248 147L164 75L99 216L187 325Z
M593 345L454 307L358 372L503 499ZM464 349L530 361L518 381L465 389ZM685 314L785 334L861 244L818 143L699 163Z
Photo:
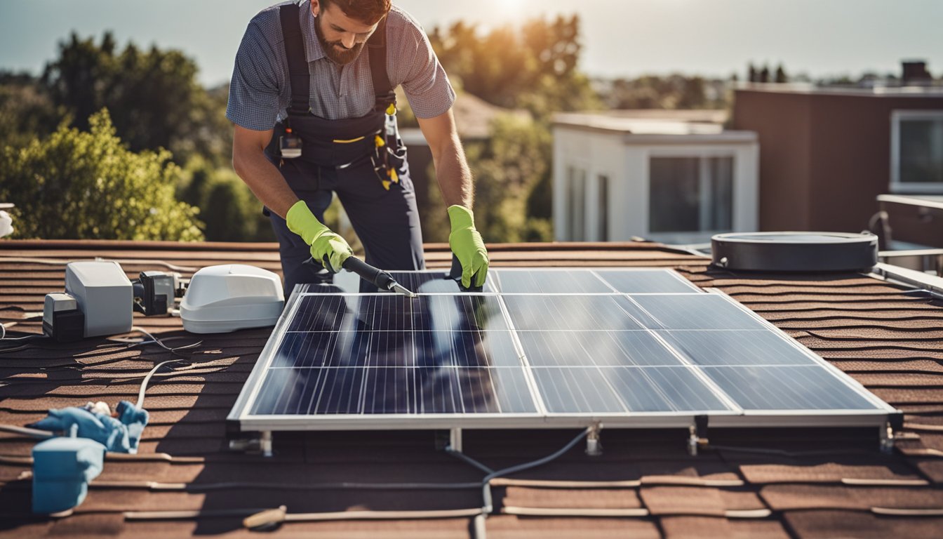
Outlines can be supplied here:
M589 80L576 70L582 44L579 17L535 19L479 35L474 25L436 27L429 36L450 78L488 103L528 109L536 118L599 103Z

